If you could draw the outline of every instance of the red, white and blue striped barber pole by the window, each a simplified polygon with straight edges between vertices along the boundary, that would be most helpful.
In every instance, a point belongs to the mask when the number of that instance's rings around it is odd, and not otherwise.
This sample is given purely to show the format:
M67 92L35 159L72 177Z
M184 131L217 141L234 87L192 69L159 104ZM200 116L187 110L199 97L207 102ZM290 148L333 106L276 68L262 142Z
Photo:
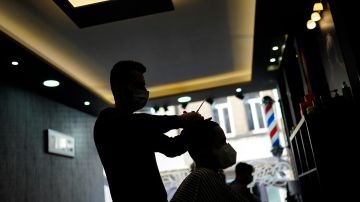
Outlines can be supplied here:
M274 100L270 96L265 96L263 98L263 104L265 107L266 123L267 123L267 127L270 131L269 136L270 136L271 145L272 145L271 152L273 153L274 156L280 157L282 154L283 148L280 145L280 140L279 140L280 132L279 132L279 128L277 126L277 122L275 119L273 103L274 103Z

